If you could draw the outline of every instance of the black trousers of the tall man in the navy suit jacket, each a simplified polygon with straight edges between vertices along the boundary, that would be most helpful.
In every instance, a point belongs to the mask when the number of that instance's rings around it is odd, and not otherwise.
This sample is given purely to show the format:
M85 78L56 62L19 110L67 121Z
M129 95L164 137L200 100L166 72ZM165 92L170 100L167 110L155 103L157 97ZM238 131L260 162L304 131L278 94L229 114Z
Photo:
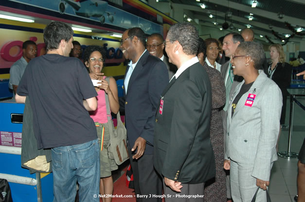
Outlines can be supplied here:
M132 159L134 153L128 147L130 165L137 202L161 202L162 180L153 166L153 155L143 155L138 160ZM147 196L147 198L146 198Z

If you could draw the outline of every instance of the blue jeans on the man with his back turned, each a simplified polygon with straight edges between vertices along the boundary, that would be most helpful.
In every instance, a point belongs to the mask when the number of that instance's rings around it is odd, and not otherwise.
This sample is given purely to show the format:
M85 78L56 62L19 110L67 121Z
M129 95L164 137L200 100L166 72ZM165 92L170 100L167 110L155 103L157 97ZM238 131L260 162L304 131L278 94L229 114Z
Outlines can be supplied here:
M96 140L52 149L53 202L74 202L76 181L80 202L99 202L100 152Z

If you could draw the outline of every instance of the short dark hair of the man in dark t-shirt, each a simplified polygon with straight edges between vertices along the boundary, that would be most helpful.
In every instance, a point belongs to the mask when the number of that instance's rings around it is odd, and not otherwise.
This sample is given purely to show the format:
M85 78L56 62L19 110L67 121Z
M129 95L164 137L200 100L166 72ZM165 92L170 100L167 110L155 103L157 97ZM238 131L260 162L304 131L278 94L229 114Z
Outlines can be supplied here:
M47 50L57 49L61 40L68 42L72 36L72 28L63 22L51 22L43 30L43 39Z

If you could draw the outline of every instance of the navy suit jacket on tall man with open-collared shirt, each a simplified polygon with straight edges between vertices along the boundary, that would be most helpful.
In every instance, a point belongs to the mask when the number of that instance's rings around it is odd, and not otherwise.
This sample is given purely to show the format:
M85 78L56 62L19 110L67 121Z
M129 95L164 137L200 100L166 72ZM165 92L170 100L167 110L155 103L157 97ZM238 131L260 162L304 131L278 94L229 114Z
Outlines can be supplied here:
M126 73L128 68L129 66L126 68ZM159 106L160 95L168 81L164 62L146 51L131 74L127 94L124 90L125 123L130 148L141 136L146 140L144 154L153 153L155 114Z

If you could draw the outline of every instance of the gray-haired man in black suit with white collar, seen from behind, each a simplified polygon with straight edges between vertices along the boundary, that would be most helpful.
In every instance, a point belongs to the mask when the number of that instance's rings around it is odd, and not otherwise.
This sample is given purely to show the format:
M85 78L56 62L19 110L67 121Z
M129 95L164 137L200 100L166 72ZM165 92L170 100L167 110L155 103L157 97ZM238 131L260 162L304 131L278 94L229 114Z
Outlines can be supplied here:
M154 166L163 177L166 202L203 202L204 183L215 176L210 141L211 84L196 56L198 31L173 25L165 39L178 71L161 94L156 113Z

